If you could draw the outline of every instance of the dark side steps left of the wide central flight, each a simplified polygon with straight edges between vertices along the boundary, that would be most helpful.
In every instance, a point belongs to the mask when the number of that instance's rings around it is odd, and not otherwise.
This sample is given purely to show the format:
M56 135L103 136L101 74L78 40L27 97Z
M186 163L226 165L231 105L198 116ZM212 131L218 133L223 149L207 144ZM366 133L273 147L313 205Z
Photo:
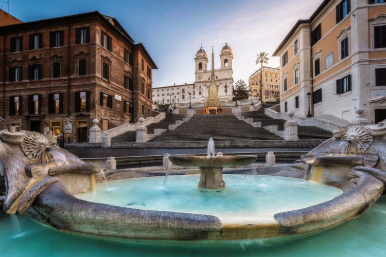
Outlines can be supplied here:
M176 121L182 121L186 116L180 115L180 114L166 114L165 119L161 120L160 122L154 122L147 126L147 133L148 134L154 134L154 130L157 128L168 130L169 125L176 124ZM120 144L120 143L128 143L128 142L135 142L136 140L136 131L129 131L123 134L120 134L119 136L113 137L111 139L111 146L114 147L114 145Z

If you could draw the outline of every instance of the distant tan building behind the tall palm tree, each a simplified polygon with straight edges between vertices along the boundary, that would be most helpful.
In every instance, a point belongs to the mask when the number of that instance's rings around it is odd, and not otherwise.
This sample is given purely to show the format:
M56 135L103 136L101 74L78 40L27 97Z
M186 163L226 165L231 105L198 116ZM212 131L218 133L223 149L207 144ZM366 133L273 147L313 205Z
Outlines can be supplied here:
M248 79L248 87L253 97L260 97L260 72L256 70ZM262 101L274 102L280 97L280 69L262 67Z

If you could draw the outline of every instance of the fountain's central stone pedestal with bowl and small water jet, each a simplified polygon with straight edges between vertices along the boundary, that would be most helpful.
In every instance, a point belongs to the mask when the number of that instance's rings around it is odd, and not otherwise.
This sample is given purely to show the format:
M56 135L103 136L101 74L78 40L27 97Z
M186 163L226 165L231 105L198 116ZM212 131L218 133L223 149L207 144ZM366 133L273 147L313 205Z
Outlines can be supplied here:
M199 188L219 189L225 187L222 179L224 167L240 167L254 163L257 159L255 155L235 155L223 156L222 153L215 153L215 143L210 138L207 149L207 156L170 156L169 160L177 166L199 167L200 182Z

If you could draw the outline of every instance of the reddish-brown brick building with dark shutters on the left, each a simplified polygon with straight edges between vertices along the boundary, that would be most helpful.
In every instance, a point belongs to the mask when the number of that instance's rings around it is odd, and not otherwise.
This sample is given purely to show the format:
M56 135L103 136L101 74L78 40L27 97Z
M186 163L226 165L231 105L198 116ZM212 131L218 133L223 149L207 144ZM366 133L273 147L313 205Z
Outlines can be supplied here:
M101 13L0 27L0 122L85 142L151 116L154 61L116 19Z

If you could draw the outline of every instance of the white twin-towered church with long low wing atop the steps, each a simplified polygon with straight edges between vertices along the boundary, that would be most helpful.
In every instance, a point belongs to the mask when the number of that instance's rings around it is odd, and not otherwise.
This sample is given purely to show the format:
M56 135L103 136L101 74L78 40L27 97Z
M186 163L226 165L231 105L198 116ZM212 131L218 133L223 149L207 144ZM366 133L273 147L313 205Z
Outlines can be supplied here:
M218 95L222 101L232 99L233 93L233 69L232 69L233 51L231 47L225 43L220 53L220 68L215 69L215 84ZM191 84L183 84L165 87L153 88L153 101L155 103L169 102L189 102L189 97L192 102L205 101L208 96L211 70L208 69L208 56L205 50L201 47L196 53L195 58L196 71L195 82ZM190 94L190 95L189 95ZM170 100L171 96L171 100ZM174 98L176 96L176 98Z

